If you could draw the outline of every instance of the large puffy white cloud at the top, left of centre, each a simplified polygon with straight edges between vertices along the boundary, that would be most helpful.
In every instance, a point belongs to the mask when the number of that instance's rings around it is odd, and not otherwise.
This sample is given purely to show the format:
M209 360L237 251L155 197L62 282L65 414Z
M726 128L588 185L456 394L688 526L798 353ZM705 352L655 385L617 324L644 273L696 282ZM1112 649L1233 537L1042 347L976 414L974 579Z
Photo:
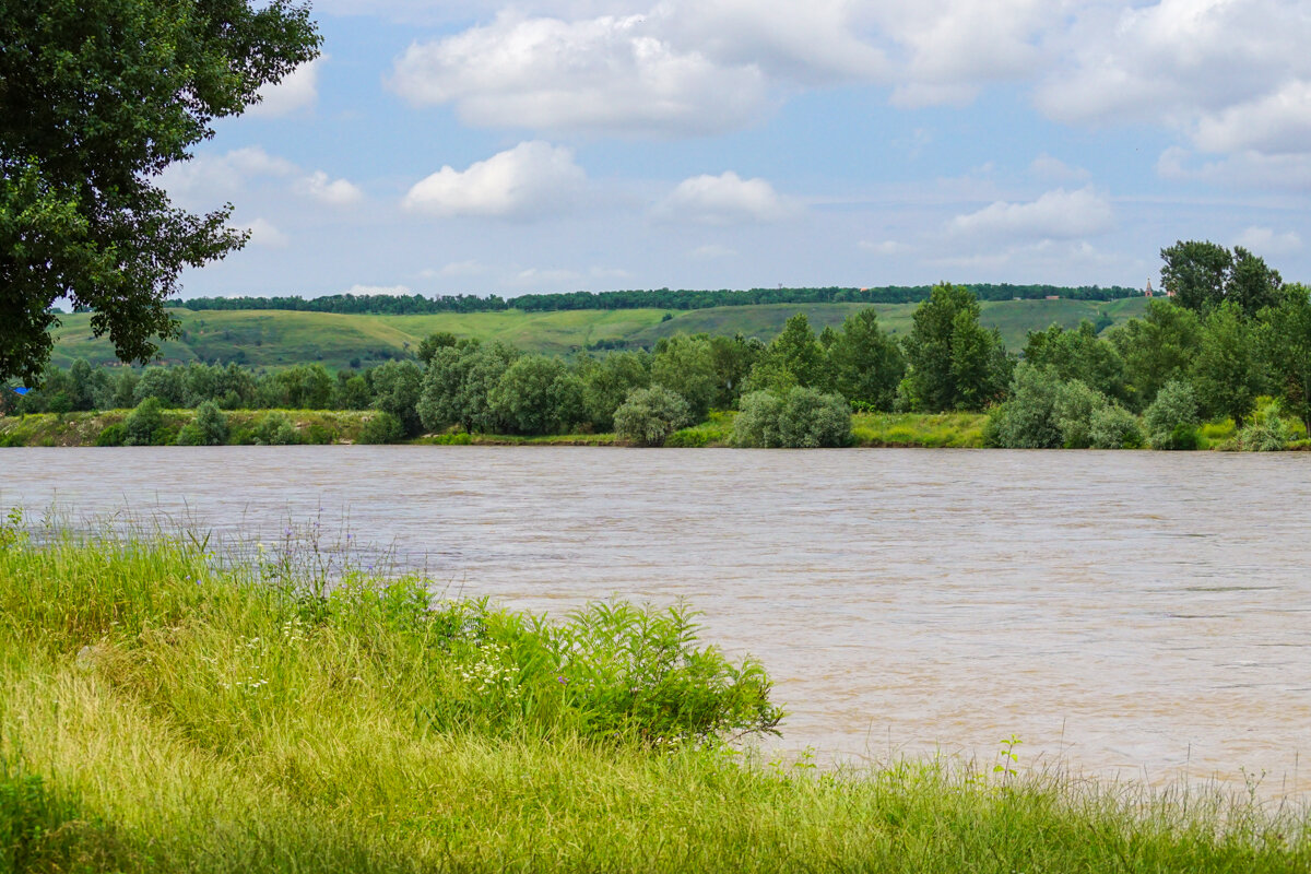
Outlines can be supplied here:
M467 123L539 130L717 132L770 104L758 67L680 50L642 16L502 14L412 45L396 60L392 88L414 104L454 104Z

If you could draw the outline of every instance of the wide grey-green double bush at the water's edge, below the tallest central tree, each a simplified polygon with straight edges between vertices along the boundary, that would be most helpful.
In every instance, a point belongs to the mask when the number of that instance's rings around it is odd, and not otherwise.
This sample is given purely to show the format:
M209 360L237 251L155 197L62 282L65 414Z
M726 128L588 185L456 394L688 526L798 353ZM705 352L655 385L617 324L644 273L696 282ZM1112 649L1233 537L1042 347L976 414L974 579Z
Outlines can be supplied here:
M733 446L818 448L851 443L851 409L840 394L794 387L785 394L753 392L733 423Z

